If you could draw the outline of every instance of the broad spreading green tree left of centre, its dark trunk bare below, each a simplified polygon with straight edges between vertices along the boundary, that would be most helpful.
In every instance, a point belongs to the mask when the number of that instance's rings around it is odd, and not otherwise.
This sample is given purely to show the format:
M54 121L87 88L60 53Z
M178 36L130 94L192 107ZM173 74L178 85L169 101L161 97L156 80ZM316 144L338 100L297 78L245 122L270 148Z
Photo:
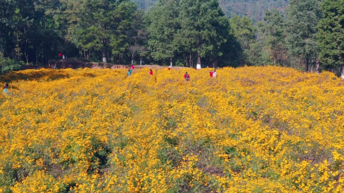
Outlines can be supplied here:
M128 0L66 1L73 42L83 51L102 51L107 63L110 54L124 51L128 44L126 32L130 30L136 4ZM124 47L124 48L123 48ZM112 51L109 53L109 50Z

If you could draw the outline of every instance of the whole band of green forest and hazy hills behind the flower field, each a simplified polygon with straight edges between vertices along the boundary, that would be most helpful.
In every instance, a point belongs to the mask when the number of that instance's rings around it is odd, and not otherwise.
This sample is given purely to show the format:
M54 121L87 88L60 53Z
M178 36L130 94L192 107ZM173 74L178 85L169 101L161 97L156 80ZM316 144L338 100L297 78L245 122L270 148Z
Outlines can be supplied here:
M275 65L340 74L344 1L287 3L0 0L1 71L48 65L62 53L117 64Z

